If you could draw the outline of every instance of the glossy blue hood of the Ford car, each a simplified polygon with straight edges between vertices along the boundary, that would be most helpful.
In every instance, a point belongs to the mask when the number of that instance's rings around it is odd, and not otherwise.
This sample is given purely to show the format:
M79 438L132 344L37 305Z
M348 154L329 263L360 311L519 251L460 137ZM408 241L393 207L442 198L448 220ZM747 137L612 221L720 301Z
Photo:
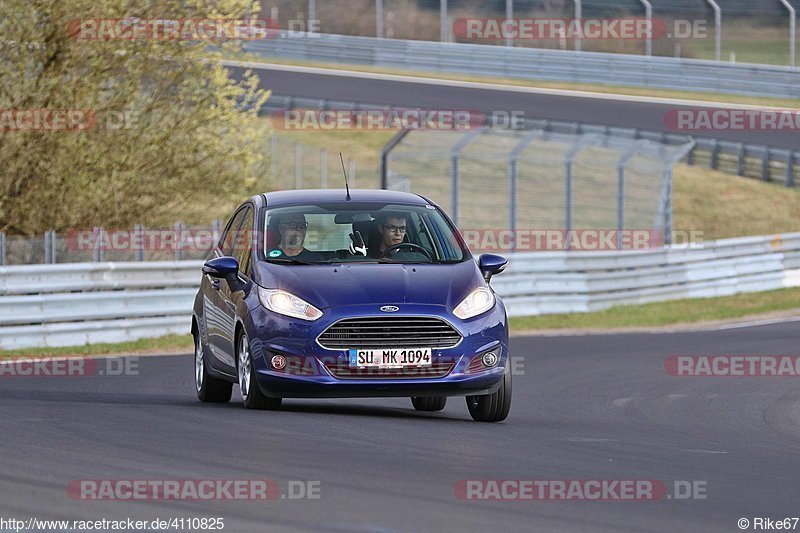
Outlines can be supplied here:
M283 289L314 306L415 303L456 306L485 285L474 260L462 263L278 265L259 263L255 282Z

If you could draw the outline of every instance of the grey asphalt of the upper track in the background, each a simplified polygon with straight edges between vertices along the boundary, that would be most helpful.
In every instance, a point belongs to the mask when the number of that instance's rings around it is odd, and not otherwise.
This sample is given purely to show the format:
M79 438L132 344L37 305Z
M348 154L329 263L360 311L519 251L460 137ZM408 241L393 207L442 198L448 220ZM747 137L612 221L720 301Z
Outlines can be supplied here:
M244 69L230 67L235 76ZM361 102L412 109L467 109L490 114L495 111L523 112L528 119L551 119L605 124L623 128L683 134L670 130L665 115L670 110L694 109L702 104L664 104L596 98L535 94L473 87L293 72L283 67L262 67L255 71L260 86L275 95ZM366 77L361 77L366 76ZM694 134L732 142L763 144L774 148L798 149L797 131L714 131Z

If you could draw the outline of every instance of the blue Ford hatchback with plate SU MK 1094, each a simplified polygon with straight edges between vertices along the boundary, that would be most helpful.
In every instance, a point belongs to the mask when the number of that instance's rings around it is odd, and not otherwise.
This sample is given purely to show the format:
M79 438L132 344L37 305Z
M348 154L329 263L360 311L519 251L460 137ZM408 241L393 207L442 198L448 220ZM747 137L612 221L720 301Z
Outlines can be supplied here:
M439 411L465 396L473 419L511 406L508 325L447 215L419 195L301 190L253 196L203 266L194 302L195 384L204 402L410 397Z

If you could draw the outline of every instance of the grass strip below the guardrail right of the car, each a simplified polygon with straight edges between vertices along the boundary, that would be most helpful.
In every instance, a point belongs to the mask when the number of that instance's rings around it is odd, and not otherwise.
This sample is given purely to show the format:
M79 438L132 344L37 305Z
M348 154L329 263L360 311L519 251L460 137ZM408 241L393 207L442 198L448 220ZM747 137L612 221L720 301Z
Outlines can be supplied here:
M737 294L719 298L692 298L645 305L622 305L593 313L511 318L512 331L543 329L614 329L692 324L730 320L765 313L797 310L800 288Z

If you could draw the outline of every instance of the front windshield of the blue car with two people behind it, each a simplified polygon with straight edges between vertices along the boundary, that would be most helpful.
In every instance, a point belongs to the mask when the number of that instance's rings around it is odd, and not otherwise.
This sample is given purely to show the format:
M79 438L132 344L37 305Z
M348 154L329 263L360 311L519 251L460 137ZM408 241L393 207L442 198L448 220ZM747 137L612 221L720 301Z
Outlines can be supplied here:
M463 241L431 205L346 202L268 209L262 258L280 264L456 263Z

